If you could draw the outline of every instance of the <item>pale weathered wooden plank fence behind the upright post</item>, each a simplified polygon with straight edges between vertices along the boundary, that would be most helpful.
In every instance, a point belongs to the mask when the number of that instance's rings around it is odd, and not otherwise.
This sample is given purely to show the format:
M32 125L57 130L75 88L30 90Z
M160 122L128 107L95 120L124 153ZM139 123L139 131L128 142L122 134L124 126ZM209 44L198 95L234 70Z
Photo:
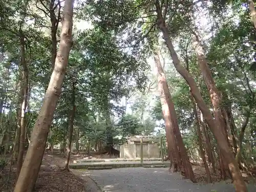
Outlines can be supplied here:
M160 158L160 150L157 143L143 143L143 158ZM123 144L120 146L120 158L141 158L141 144Z

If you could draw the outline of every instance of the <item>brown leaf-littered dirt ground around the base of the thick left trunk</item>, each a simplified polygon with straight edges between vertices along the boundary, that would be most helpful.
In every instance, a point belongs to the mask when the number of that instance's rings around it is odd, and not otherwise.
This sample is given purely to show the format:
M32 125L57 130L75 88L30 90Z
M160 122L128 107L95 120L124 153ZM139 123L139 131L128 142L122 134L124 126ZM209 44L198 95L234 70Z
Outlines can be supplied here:
M65 160L56 156L45 154L42 160L39 176L36 182L35 191L37 192L88 192L86 190L87 182L72 172L63 170L62 166ZM0 172L1 173L1 172ZM9 165L0 175L0 191L11 192L16 182L16 168L13 166L10 173Z

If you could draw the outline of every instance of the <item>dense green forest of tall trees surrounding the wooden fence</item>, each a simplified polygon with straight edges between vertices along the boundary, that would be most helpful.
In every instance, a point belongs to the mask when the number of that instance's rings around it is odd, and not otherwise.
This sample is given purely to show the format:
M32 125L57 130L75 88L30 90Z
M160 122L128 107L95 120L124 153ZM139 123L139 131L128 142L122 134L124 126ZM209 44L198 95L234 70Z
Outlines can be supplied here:
M208 183L218 174L248 191L252 0L0 0L0 15L4 188L15 172L14 192L33 191L46 153L69 170L72 154L118 156L125 137L154 135L170 172L197 182L199 163Z

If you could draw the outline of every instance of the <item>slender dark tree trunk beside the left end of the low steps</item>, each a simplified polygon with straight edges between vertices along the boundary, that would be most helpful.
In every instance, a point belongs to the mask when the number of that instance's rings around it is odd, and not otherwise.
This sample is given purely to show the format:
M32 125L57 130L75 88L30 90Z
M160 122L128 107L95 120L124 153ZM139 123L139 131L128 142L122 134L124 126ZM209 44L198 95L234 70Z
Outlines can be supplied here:
M76 112L76 105L75 105L75 82L72 82L72 110L70 111L70 120L69 120L69 143L67 148L67 159L65 162L65 169L69 169L69 159L70 159L70 152L71 152L71 143L72 143L72 135L73 135L73 127L74 127L74 119L75 119L75 112Z

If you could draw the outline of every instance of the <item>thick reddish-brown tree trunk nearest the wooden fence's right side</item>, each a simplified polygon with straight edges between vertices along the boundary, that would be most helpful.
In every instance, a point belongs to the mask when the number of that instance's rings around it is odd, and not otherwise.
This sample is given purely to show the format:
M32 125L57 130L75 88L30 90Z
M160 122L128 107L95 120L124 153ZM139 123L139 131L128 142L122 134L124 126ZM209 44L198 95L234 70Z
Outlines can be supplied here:
M160 62L160 54L158 50L156 50L155 61L156 61L157 70L158 70L158 86L159 86L159 92L161 94L160 97L161 97L161 103L162 103L162 111L165 117L164 120L166 122L165 127L166 127L166 138L168 138L167 142L172 141L174 139L173 142L171 142L170 144L170 148L172 149L171 154L172 156L175 156L173 160L175 162L176 161L175 158L179 158L177 157L179 152L177 150L177 146L175 146L176 143L174 142L176 140L179 147L182 163L185 169L185 177L189 178L193 182L196 182L196 177L194 175L192 166L189 162L186 148L180 134L174 102L169 92L168 84L166 82L165 74Z

